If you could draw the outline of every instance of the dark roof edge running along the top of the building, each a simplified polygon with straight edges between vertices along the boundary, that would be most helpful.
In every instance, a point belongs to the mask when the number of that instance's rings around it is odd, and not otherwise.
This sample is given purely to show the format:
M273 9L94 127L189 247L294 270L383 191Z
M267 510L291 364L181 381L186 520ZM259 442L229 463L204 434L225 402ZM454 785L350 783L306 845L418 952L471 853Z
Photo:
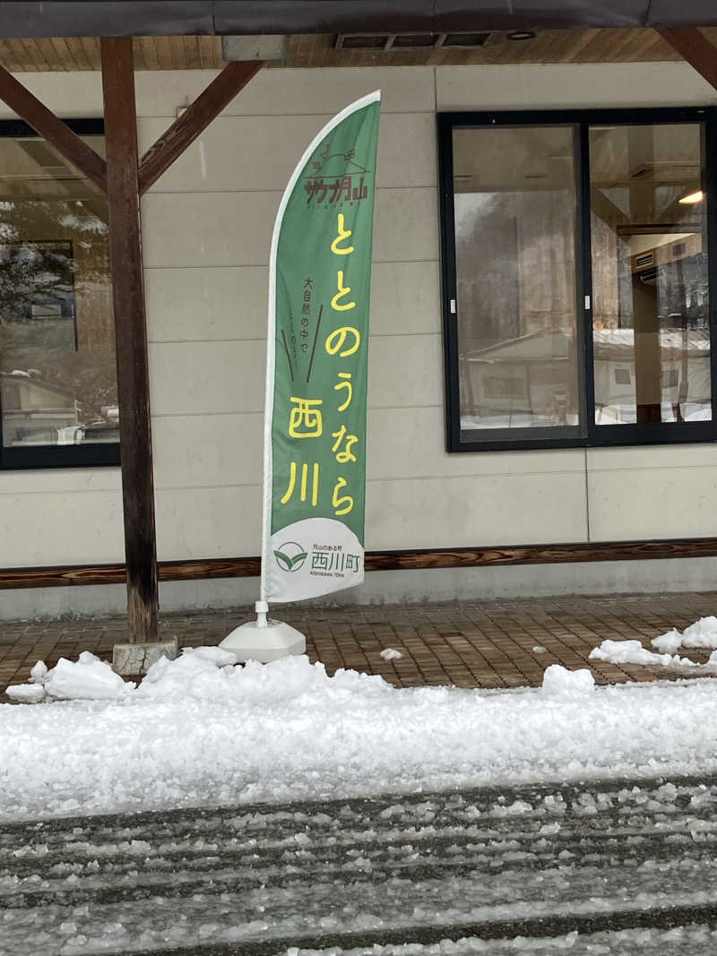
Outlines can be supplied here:
M0 4L0 37L452 32L717 25L713 0L45 0Z

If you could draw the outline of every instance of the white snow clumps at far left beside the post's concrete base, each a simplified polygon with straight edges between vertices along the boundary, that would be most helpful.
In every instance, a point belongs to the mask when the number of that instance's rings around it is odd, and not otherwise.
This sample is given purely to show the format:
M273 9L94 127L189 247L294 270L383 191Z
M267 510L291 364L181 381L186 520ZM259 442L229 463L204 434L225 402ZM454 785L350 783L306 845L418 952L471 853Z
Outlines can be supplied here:
M46 697L59 700L106 700L131 692L135 684L127 683L112 666L95 654L82 651L76 662L60 658L52 670L38 661L30 674L30 684L8 687L8 697L16 701L41 701Z

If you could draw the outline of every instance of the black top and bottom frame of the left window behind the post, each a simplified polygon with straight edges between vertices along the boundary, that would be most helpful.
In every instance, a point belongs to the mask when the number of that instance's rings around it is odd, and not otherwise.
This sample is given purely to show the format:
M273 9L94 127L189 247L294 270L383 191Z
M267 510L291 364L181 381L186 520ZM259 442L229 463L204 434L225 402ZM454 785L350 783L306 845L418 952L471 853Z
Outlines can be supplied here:
M65 120L77 136L104 136L104 120ZM38 139L38 134L23 120L0 120L0 139ZM42 137L39 137L42 139ZM83 445L3 446L3 417L0 407L0 471L42 468L117 467L119 442L87 442Z

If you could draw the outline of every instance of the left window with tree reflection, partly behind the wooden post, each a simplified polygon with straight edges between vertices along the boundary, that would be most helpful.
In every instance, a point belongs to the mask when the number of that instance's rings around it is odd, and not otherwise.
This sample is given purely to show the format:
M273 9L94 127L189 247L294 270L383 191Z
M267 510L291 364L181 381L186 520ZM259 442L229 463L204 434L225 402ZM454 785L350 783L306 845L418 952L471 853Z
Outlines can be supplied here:
M103 152L102 120L68 120ZM19 121L0 122L0 467L120 461L107 204Z

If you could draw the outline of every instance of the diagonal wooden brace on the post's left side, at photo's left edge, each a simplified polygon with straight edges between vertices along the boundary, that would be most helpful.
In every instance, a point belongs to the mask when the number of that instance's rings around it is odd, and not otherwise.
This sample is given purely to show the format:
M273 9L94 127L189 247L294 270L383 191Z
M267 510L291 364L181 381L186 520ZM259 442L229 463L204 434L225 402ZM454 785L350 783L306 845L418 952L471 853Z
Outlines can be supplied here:
M68 163L76 166L84 176L98 185L102 192L107 192L107 164L102 157L98 156L92 146L80 140L66 122L58 119L3 66L0 66L0 99L32 126L36 133L52 143Z

